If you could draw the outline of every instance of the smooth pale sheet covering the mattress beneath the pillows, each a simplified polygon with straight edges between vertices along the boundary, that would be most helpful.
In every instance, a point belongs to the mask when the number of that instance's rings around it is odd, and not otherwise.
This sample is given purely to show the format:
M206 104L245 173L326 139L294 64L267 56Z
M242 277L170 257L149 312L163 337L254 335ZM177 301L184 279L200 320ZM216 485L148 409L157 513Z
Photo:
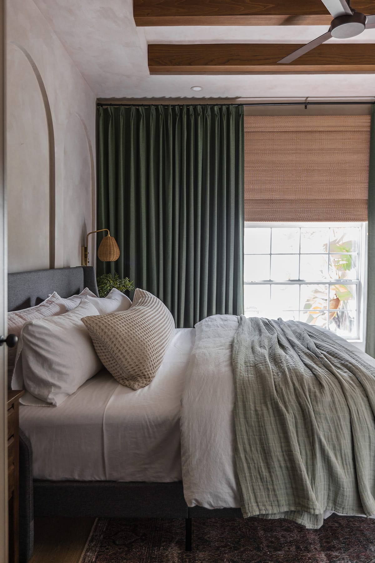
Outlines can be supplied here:
M176 329L155 379L138 391L103 371L57 407L20 405L35 479L180 480L180 401L194 342L195 329Z

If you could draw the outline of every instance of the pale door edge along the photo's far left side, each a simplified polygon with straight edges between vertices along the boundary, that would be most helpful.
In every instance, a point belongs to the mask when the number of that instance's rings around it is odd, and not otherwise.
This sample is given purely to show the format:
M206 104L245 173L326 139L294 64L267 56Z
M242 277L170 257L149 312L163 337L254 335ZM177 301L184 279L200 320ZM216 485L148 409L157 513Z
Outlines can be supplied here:
M4 186L4 0L0 0L0 336L6 334L7 253ZM0 563L8 561L8 459L6 346L0 346Z

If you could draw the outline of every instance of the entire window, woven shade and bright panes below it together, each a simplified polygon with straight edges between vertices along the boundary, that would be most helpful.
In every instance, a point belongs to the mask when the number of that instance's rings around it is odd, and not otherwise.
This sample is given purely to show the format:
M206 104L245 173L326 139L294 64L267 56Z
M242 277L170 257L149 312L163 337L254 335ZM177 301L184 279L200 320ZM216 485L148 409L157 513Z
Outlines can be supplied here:
M245 117L245 315L363 346L369 140L369 115Z

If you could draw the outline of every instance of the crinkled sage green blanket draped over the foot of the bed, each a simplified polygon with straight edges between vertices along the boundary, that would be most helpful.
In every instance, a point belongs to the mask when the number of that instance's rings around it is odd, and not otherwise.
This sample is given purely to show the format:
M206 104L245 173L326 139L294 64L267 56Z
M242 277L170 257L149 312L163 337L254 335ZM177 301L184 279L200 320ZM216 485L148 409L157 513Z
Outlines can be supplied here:
M245 316L232 347L244 517L375 514L375 369L304 323Z

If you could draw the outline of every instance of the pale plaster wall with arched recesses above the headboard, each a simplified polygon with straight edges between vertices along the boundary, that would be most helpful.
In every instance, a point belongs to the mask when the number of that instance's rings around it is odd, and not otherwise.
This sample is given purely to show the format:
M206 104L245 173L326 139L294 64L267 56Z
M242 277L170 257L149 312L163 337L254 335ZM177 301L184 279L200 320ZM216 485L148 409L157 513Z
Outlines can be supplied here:
M96 216L96 96L33 0L8 0L6 34L8 271L78 266Z

